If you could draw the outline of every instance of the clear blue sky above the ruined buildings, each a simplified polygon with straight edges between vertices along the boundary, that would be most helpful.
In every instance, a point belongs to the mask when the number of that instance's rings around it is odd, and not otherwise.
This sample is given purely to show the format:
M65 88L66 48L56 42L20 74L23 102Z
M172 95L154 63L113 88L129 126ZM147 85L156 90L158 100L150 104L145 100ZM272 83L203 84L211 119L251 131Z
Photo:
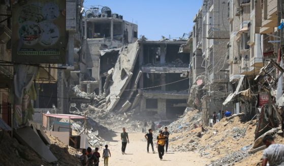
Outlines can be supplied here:
M182 37L192 31L193 18L202 0L84 0L84 7L107 6L112 13L123 16L129 22L138 23L138 37L160 40Z

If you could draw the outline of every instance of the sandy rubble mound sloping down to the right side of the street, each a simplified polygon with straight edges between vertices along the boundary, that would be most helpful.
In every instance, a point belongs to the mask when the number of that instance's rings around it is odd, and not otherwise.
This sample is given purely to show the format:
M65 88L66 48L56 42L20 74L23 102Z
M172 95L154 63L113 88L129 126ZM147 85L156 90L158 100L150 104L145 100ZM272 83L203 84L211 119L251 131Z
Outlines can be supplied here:
M198 110L185 112L168 125L170 151L197 152L210 158L212 166L233 165L249 156L247 151L254 143L256 120L241 122L240 116L242 114L223 118L213 127L202 127Z

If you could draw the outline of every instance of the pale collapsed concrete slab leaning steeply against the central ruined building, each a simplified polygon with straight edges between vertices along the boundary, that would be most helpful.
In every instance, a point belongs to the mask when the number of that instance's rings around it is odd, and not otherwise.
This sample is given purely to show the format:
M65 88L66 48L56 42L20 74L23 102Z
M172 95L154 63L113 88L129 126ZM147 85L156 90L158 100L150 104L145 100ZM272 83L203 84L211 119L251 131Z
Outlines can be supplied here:
M107 111L113 111L124 89L128 86L139 53L138 42L123 47L115 63L110 93L106 97Z

